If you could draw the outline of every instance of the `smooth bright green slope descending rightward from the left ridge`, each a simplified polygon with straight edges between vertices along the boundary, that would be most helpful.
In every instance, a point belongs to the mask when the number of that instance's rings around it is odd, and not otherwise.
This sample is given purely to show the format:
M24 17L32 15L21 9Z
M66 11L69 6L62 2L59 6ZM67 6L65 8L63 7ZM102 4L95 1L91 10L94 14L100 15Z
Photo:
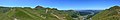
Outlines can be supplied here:
M34 13L29 13L24 9L17 9L15 16L19 20L42 20L42 18L36 16Z

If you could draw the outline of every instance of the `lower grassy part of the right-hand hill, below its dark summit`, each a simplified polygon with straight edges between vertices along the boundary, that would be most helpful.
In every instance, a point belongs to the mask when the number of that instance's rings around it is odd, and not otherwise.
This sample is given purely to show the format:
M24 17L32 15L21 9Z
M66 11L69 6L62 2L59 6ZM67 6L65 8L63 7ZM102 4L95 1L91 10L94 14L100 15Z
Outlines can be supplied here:
M120 15L115 11L105 10L92 17L93 20L120 20Z

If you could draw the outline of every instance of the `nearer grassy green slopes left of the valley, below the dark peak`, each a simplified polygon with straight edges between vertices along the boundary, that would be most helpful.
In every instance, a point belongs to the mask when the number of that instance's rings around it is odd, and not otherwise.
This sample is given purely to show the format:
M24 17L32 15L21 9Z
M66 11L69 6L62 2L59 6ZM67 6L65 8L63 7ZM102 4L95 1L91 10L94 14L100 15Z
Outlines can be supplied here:
M29 8L11 8L0 14L0 20L72 20L70 12L49 10L35 10Z

